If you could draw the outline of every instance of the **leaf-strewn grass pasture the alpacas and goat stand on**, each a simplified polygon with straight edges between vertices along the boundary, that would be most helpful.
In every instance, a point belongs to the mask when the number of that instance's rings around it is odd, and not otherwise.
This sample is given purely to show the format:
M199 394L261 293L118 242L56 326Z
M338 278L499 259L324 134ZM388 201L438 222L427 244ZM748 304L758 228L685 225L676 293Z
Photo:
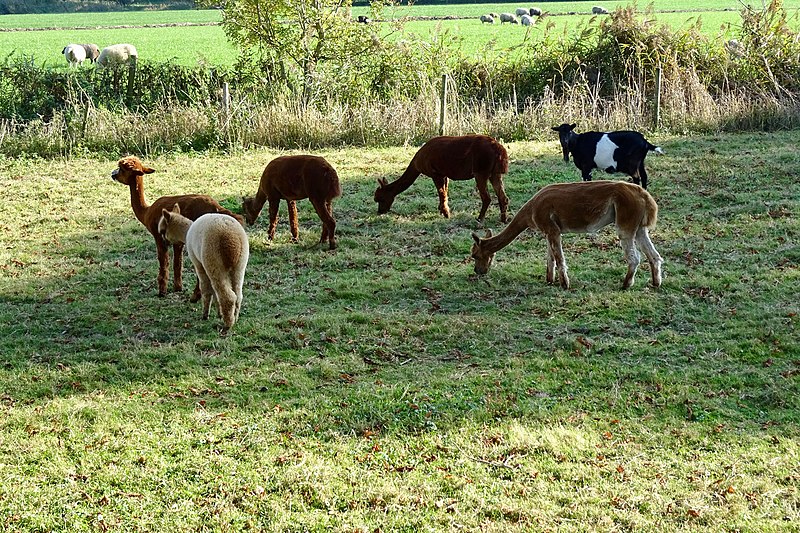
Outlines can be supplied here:
M112 160L0 159L0 516L20 531L792 530L800 523L800 133L649 134L659 202L628 291L614 232L525 233L484 278L472 183L451 219L416 148L320 152L339 249L299 202L251 260L232 334L156 296L153 240ZM575 181L555 140L508 145L515 212ZM278 153L167 155L146 197L238 209ZM598 175L599 177L599 175ZM188 263L188 259L187 259Z

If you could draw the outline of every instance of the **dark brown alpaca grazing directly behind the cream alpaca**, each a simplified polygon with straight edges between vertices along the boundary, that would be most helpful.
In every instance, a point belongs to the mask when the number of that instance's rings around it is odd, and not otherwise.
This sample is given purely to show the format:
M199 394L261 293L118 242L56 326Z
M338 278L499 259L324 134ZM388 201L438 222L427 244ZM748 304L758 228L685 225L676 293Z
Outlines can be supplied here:
M308 198L322 220L320 244L329 242L336 249L336 220L331 202L342 195L336 170L322 157L313 155L286 155L269 162L261 174L255 197L245 198L242 211L248 224L254 224L264 202L269 202L269 240L275 238L278 226L278 207L281 200L289 206L289 227L292 242L297 242L297 200Z

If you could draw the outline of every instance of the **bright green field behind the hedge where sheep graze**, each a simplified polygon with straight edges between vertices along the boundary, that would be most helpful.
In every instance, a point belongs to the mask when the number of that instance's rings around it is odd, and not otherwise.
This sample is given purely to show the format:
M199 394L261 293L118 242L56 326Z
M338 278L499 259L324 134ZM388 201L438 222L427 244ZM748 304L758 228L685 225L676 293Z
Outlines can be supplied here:
M603 5L628 5L630 2L607 2ZM598 24L600 18L592 18L589 13L596 2L548 2L544 5L547 13L542 22L553 24L550 31L558 33L571 31L582 24ZM464 4L437 6L399 6L387 10L386 18L400 17L465 17L461 20L411 20L406 31L422 36L449 31L459 40L466 54L475 54L488 46L505 50L523 43L526 39L541 38L546 24L532 28L495 24L481 24L477 18L491 11L513 11L518 4ZM640 9L645 10L642 5ZM756 6L760 5L758 3ZM679 2L658 1L652 3L653 18L675 28L693 24L699 17L703 29L710 35L720 32L734 36L740 20L741 4L730 0L711 0L700 4L681 0ZM784 3L790 14L796 15L800 0ZM574 12L574 15L568 13ZM354 8L354 14L366 13L366 8ZM128 13L81 13L53 15L4 15L0 17L0 29L13 28L59 28L46 31L6 31L0 32L0 57L9 54L33 57L37 63L66 68L60 55L61 49L69 42L95 42L101 46L116 42L132 42L137 46L140 57L146 60L175 60L185 65L198 61L212 64L231 64L236 57L236 49L229 44L224 32L218 26L196 27L140 27L114 29L113 26L147 26L158 24L209 24L221 20L216 10L192 11L142 11ZM795 18L795 23L797 20ZM80 28L80 29L77 29Z

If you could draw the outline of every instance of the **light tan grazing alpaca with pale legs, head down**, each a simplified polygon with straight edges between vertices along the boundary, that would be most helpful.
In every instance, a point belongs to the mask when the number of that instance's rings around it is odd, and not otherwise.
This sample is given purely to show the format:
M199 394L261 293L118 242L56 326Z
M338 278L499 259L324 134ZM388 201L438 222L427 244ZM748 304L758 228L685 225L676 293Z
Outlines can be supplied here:
M648 230L656 225L658 205L650 193L624 181L556 183L540 190L528 200L506 228L492 237L481 239L472 234L472 258L475 273L486 274L494 254L513 241L525 229L538 229L547 238L547 282L555 281L555 267L561 286L569 288L567 264L561 248L562 233L589 233L614 224L617 227L628 273L622 288L633 285L639 266L638 244L650 263L653 286L661 285L661 256L650 241Z

